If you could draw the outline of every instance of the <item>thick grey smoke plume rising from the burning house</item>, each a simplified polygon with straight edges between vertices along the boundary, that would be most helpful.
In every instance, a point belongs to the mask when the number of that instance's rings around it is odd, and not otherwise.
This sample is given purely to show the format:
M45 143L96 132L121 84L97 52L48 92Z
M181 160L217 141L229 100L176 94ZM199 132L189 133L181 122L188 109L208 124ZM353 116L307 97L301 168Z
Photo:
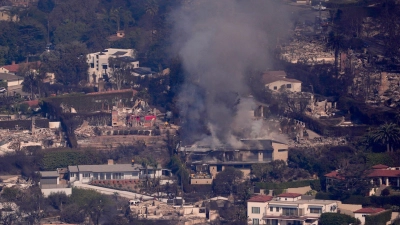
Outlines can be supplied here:
M234 146L236 134L252 126L252 103L242 98L250 93L246 73L271 66L269 50L289 29L287 13L273 0L188 2L172 15L186 73L178 103L182 138Z

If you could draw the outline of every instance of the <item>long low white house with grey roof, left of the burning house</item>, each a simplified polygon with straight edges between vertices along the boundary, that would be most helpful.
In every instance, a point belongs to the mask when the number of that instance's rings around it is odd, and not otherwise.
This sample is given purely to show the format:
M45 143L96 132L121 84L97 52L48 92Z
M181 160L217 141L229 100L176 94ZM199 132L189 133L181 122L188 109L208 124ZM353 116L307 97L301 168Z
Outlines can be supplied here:
M169 170L143 167L140 164L115 164L108 160L105 165L76 165L68 166L69 181L90 183L94 180L138 180L143 178L161 178L163 174L169 174Z

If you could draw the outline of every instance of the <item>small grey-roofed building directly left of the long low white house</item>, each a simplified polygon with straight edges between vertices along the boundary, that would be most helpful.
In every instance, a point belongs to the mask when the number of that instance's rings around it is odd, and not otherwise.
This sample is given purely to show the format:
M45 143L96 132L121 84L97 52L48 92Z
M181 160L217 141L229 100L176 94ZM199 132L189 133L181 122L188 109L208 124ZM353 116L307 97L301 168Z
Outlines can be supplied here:
M45 197L52 193L63 192L66 195L72 194L72 188L68 186L65 182L61 182L59 170L57 171L41 171L40 172L40 182L39 186Z

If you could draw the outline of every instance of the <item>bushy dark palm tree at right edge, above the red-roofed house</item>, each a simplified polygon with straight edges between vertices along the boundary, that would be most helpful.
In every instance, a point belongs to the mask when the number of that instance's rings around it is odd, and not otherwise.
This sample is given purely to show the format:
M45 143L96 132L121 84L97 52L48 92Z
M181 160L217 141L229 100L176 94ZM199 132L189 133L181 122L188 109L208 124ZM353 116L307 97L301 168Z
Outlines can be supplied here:
M372 131L376 142L386 144L386 151L393 151L393 145L400 142L400 128L394 123L385 123Z

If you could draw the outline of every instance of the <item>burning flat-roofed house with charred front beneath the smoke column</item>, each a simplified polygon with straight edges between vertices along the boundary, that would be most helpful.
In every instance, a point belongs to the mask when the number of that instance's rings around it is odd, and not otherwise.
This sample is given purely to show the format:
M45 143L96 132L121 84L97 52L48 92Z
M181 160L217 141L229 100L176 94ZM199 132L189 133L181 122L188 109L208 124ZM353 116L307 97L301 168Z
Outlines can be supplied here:
M192 184L211 184L212 179L226 167L239 169L247 176L253 164L287 161L288 158L288 145L269 139L242 139L236 147L197 145L178 150L191 167Z

